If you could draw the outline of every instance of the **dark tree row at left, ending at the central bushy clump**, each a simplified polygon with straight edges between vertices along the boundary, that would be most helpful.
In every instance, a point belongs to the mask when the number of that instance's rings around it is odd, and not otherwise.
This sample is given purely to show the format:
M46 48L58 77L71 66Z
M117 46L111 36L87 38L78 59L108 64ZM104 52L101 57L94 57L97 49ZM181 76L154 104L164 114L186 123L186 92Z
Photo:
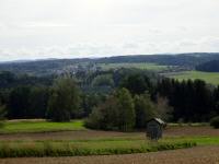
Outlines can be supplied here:
M0 108L9 119L47 118L68 121L88 117L104 94L85 94L72 78L59 78L51 86L21 85L0 90Z

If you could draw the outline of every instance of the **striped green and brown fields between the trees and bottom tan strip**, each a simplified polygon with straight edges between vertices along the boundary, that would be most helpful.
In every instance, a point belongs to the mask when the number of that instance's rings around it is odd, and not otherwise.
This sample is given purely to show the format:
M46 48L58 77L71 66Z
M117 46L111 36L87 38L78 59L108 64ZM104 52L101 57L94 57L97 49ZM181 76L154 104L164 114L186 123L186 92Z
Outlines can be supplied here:
M89 130L82 120L11 120L0 133L0 157L130 154L194 145L219 145L218 130L208 124L171 124L162 140L151 142L145 132Z

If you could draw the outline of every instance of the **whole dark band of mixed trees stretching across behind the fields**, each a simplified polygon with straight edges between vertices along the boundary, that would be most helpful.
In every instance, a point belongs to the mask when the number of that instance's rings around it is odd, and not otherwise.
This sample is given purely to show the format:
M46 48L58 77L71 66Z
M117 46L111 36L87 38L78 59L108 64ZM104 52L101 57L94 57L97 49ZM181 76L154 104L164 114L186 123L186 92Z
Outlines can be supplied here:
M55 79L50 85L3 87L0 112L10 119L87 118L90 128L123 131L143 128L152 117L196 122L209 121L219 115L219 86L201 80L177 81L126 69L105 74L95 72L84 79L90 79L89 83L67 75ZM110 85L111 91L88 92L83 84L92 89Z

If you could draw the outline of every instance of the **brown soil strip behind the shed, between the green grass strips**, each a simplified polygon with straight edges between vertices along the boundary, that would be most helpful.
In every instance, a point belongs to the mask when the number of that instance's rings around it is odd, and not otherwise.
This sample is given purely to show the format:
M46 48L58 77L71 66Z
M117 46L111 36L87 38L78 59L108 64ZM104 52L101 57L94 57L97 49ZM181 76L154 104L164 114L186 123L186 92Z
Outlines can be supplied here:
M117 132L117 131L59 131L42 133L14 133L0 134L0 140L84 140L99 138L145 138L145 132ZM208 126L204 127L170 127L164 131L165 137L175 136L218 136L219 130Z

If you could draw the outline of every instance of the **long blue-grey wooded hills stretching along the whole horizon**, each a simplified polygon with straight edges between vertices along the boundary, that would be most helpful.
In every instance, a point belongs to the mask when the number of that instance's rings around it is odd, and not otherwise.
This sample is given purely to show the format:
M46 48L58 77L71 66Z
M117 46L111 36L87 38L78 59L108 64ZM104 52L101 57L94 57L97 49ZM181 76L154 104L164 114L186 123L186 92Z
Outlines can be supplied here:
M180 66L195 69L204 62L219 60L219 52L195 52L180 55L135 55L107 58L83 59L47 59L36 61L0 63L0 71L48 75L64 72L77 72L84 69L96 69L95 63L153 62L163 66Z

